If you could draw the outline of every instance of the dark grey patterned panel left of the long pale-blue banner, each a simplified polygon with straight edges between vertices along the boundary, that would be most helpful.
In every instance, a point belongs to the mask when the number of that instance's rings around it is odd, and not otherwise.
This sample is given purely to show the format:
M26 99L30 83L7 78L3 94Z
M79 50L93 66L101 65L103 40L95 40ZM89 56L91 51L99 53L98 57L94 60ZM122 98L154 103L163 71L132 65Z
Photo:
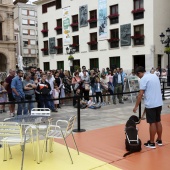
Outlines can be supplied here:
M87 5L79 7L79 18L80 18L80 27L88 26L88 8Z

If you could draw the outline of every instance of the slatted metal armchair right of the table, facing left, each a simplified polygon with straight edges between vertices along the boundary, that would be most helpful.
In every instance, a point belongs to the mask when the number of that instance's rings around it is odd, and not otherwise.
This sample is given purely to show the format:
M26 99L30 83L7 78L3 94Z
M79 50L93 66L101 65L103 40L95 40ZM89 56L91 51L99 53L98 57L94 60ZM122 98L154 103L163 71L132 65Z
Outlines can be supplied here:
M66 120L58 120L58 121L56 122L56 125L49 125L49 127L48 127L48 129L47 129L46 140L44 141L43 152L42 152L42 159L43 159L45 144L46 144L46 141L47 141L48 139L50 139L50 142L49 142L49 150L50 150L50 152L53 151L52 144L53 144L54 139L63 139L63 140L64 140L64 143L65 143L65 145L66 145L68 154L69 154L69 156L70 156L71 163L73 164L73 159L72 159L72 157L71 157L71 154L70 154L70 151L69 151L67 142L66 142L66 138L67 138L70 134L72 135L72 138L73 138L73 141L74 141L74 145L75 145L76 150L77 150L77 153L78 153L78 155L79 155L78 147L77 147L76 141L75 141L75 139L74 139L73 131L72 131L75 120L76 120L76 116L72 116L72 117L69 119L69 121L66 121ZM58 126L58 123L61 123L61 124L64 123L64 124L67 125L65 131L63 131L60 126ZM42 160L42 159L41 159L41 160Z

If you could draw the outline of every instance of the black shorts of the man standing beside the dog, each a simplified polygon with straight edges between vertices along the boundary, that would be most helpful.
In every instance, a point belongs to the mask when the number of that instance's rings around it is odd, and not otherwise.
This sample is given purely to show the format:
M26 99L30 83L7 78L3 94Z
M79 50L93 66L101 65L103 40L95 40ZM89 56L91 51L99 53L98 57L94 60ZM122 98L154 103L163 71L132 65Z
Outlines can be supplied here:
M155 108L146 108L147 123L156 123L161 121L162 106Z

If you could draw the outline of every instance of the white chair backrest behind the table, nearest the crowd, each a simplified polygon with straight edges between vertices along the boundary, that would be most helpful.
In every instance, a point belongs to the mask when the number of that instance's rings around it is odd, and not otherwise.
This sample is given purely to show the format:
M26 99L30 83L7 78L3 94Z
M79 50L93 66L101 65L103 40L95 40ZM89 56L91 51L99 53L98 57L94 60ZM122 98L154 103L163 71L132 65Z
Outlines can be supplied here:
M33 116L51 116L51 110L49 108L33 108L31 110Z

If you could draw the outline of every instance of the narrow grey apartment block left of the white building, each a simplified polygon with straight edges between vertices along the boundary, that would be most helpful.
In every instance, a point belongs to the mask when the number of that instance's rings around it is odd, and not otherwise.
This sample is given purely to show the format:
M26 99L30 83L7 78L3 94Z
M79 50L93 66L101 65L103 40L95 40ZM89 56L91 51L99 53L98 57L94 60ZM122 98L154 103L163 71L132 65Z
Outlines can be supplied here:
M37 7L26 4L27 0L15 1L15 36L18 39L17 57L23 57L24 66L38 66Z

